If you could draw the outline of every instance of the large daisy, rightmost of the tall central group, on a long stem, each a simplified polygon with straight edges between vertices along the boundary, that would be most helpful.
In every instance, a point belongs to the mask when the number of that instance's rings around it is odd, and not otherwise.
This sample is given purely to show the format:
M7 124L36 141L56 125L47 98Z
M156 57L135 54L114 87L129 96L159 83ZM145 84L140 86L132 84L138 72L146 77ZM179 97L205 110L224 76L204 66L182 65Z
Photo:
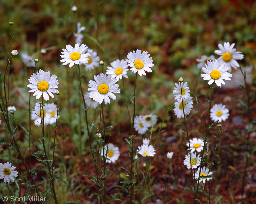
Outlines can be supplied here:
M149 57L148 52L143 51L141 53L141 50L137 49L136 53L135 51L128 53L127 58L128 66L132 67L131 71L134 73L138 72L140 76L142 74L146 76L146 72L152 72L149 67L153 67L154 64L152 64L153 60L152 57Z

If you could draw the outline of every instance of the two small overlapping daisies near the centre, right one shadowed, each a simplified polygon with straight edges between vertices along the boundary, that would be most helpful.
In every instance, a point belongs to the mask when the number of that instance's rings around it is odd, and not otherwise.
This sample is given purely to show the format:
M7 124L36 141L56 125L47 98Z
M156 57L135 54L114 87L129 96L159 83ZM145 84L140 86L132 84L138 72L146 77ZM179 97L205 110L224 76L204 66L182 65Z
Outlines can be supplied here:
M145 134L145 132L157 122L157 116L154 114L139 115L134 118L134 129L139 134Z

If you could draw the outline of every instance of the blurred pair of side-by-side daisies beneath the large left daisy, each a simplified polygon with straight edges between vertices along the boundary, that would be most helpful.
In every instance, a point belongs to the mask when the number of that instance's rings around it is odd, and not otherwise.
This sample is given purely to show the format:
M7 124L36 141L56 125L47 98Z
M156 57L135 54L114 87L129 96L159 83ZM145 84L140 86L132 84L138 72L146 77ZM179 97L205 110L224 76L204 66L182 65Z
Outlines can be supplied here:
M44 124L46 125L52 125L54 123L56 123L56 117L57 117L57 105L55 105L54 103L50 103L47 104L45 103L43 105L40 105L39 103L35 104L34 109L31 111L31 119L34 120L34 124L36 126L40 126L41 125L41 119L44 116ZM59 118L59 114L58 114L58 118Z

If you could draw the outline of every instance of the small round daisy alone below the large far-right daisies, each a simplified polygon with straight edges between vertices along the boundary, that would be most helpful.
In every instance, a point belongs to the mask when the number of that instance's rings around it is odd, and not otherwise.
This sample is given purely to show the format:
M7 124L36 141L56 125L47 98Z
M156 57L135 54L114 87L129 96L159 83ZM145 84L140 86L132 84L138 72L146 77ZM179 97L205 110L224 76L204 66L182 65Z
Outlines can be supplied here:
M228 119L229 117L229 109L227 109L225 105L222 105L222 103L215 104L211 108L210 117L214 122L216 122L217 120L219 120L218 123L220 123L222 120L226 121L226 119Z

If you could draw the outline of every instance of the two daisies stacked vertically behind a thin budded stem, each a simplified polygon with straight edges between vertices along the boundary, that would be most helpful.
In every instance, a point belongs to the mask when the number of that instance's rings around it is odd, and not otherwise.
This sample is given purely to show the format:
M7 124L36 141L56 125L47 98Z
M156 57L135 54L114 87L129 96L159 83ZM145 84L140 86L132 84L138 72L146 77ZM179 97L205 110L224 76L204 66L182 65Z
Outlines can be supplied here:
M183 79L181 79L181 81L183 81ZM175 100L177 100L177 102L174 103L174 113L178 118L181 118L181 116L184 118L184 113L185 115L189 114L191 108L193 108L192 97L190 96L190 90L187 82L181 82L181 86L177 83L175 83L175 85L176 87L173 88L173 95L175 96Z

